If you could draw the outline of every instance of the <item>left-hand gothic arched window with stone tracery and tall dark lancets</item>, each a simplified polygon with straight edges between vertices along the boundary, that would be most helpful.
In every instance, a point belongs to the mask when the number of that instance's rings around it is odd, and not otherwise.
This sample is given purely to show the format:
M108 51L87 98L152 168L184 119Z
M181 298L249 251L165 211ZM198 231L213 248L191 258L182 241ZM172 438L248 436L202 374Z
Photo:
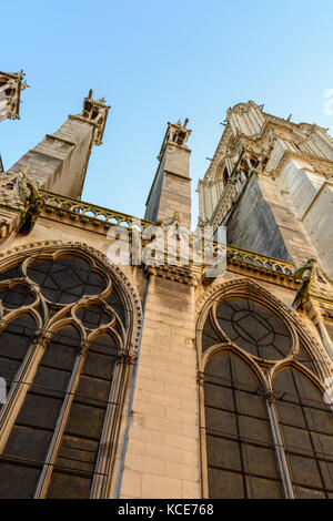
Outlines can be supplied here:
M132 328L121 285L81 251L42 251L7 264L0 298L0 497L100 497Z

